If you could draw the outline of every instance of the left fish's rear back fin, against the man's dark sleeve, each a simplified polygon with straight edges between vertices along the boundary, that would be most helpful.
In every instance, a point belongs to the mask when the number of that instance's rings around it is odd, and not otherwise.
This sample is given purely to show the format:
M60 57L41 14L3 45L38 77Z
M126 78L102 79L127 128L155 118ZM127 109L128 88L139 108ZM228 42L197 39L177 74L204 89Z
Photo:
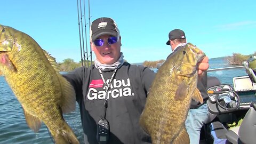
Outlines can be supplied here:
M70 113L76 109L76 92L74 87L67 81L66 78L62 77L57 73L62 88L61 97L61 109L62 113Z

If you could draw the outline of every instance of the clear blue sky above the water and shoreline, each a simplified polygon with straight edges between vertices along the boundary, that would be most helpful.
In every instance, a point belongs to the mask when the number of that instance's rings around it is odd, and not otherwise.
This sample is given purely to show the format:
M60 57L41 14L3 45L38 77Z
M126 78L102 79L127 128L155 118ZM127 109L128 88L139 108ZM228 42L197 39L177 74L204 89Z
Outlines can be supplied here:
M89 2L82 0L82 22L80 4L78 7L79 11L75 0L1 0L0 25L30 35L57 62L68 58L79 62L83 42L91 59L89 23L100 17L116 21L121 51L130 63L166 59L172 51L165 43L175 28L185 31L187 42L198 46L210 59L256 51L255 0L91 0L90 20ZM78 13L84 32L81 44Z

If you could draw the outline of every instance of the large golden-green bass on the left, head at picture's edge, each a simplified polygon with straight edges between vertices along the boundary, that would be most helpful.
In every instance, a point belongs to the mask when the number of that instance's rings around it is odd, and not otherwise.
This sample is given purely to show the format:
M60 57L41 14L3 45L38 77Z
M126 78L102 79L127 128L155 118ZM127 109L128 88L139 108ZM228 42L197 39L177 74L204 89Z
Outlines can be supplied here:
M30 129L37 132L43 121L56 143L79 143L62 116L75 110L75 91L56 66L29 35L0 25L0 74L21 103Z

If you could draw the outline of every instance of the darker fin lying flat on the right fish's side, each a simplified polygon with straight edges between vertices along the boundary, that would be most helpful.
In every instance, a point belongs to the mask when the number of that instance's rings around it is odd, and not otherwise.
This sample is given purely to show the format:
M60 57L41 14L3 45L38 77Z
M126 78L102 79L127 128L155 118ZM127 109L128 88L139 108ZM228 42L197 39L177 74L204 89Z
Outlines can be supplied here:
M188 95L188 85L186 82L183 80L180 85L178 86L177 91L175 92L174 99L175 100L183 100L187 97Z

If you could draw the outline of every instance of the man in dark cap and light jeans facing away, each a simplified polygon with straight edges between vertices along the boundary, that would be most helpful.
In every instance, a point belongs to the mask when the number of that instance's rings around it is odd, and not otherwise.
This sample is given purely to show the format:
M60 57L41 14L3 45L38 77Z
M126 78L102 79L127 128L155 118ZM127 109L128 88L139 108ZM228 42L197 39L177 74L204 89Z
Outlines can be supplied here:
M171 49L177 51L184 47L187 43L186 36L183 30L173 29L169 33L169 40L166 42L167 45L171 46ZM171 53L169 57L173 54ZM200 69L199 69L200 71ZM190 138L190 143L199 143L201 128L207 120L208 107L206 105L206 100L209 98L207 95L207 72L205 71L197 82L197 88L201 92L203 97L203 103L192 100L190 109L188 111L188 116L186 119L186 129Z

